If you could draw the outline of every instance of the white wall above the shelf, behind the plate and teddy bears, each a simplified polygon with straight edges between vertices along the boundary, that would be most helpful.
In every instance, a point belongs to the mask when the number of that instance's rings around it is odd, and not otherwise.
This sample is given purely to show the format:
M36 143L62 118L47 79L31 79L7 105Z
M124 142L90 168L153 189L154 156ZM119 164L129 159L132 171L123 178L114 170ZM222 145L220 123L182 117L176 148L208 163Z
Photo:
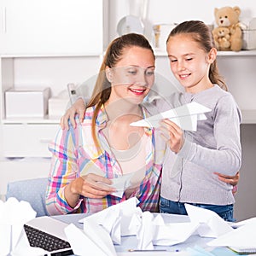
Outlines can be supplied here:
M207 24L214 22L214 9L224 6L239 6L242 17L256 17L254 0L110 0L110 39L118 33L116 26L125 15L138 15L145 24L148 37L153 24L179 23L183 20L202 20Z

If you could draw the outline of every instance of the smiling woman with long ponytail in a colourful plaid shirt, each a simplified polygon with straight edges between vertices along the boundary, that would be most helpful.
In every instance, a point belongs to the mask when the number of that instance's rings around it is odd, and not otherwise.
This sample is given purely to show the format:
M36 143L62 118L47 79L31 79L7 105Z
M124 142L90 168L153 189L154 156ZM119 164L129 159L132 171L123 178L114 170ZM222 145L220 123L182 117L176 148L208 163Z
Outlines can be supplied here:
M143 211L158 210L166 146L154 129L130 126L148 116L140 104L153 84L154 52L148 40L134 33L113 40L83 121L60 129L49 144L49 214L98 212L133 196ZM125 174L131 174L130 183L115 196L111 179Z

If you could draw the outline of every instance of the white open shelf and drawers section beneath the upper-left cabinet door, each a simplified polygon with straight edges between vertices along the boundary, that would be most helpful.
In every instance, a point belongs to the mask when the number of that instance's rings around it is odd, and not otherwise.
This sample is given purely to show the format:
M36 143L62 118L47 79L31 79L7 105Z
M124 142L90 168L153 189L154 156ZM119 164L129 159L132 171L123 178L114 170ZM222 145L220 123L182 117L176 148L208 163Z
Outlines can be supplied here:
M5 90L20 86L22 81L37 86L43 80L56 96L61 90L67 90L68 82L84 82L94 76L101 61L102 54L0 56L0 198L9 181L48 175L48 143L60 124L60 118L48 116L7 119Z

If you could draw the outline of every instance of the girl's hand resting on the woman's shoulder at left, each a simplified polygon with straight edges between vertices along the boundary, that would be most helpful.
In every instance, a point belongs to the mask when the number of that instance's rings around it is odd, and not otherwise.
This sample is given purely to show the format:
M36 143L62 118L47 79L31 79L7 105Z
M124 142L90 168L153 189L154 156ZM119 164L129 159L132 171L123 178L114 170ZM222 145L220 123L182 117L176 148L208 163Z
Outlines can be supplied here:
M70 119L73 128L76 128L76 121L74 119L76 113L79 114L79 122L82 123L84 120L85 104L82 98L76 100L73 105L67 109L66 113L61 117L61 129L68 130L68 119Z

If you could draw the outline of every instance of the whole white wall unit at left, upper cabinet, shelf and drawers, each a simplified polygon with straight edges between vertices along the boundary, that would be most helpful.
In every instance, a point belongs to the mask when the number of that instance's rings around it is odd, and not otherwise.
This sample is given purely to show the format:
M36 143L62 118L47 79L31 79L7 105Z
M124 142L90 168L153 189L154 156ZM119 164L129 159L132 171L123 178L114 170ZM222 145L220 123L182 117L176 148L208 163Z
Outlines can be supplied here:
M5 91L49 86L51 96L95 75L108 43L106 0L0 2L0 198L9 181L46 177L60 119L12 118Z

